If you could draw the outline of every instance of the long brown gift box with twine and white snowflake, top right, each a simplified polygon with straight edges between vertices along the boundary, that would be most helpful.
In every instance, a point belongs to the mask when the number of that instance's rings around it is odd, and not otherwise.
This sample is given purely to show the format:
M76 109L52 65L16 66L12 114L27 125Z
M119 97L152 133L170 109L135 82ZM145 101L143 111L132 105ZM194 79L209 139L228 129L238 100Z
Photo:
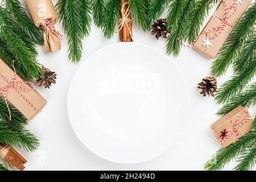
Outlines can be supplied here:
M214 59L250 3L251 0L222 0L193 47Z

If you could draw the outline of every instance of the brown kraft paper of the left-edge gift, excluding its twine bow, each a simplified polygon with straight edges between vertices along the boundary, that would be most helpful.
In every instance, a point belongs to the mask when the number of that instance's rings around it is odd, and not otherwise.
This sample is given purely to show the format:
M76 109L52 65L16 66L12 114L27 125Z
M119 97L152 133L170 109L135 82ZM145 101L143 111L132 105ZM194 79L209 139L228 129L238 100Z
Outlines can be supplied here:
M0 59L0 73L3 75L9 82L13 79L15 73L13 69L9 67L3 61ZM22 78L18 77L15 82L23 81ZM19 86L22 86L25 89L31 89L32 87L28 84L21 83L18 84ZM5 88L7 86L7 82L0 77L0 89ZM16 89L24 96L27 101L29 101L32 106L36 108L36 110L40 111L42 108L46 105L46 100L38 93L36 90L33 90L31 92L26 92L18 87ZM38 111L36 111L22 96L19 95L13 88L10 88L7 91L7 100L13 104L16 109L20 111L26 117L28 120L35 117L36 114L38 114Z

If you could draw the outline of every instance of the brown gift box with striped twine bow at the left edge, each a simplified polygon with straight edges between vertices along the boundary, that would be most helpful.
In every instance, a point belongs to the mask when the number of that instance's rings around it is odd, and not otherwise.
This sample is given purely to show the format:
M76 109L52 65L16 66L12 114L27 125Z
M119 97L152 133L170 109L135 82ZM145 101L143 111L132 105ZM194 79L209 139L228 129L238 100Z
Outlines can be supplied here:
M0 97L5 100L10 120L9 102L28 120L34 118L46 105L46 100L36 92L35 85L22 80L15 69L11 69L2 59L0 59Z

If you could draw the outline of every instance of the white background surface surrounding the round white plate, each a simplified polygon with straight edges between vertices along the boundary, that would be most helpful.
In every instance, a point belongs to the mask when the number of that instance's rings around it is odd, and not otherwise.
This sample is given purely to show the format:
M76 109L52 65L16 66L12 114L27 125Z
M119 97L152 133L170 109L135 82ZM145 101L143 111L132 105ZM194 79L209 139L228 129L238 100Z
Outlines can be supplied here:
M63 32L59 23L56 27ZM135 26L133 34L135 42L165 53L163 38L156 40L150 32L144 33ZM106 40L101 30L93 25L90 36L82 41L84 51L81 62L97 49L117 42L119 42L118 34L111 40ZM55 53L45 53L43 47L38 47L39 62L56 71L57 84L49 90L36 88L48 103L28 125L28 129L39 138L40 147L32 153L21 151L28 160L27 170L203 170L205 162L220 148L210 124L218 119L215 113L221 105L217 105L212 97L201 96L200 90L196 88L202 78L210 75L212 61L194 49L183 48L179 57L170 56L170 59L179 69L188 86L191 110L187 126L175 146L158 158L140 164L112 163L92 154L77 139L69 123L68 87L79 64L73 64L68 60L65 36L62 47L61 51ZM129 54L129 50L127 53ZM218 86L230 76L232 76L231 69L226 76L218 78ZM253 116L256 114L255 107L250 108L249 111ZM230 163L225 169L232 169L235 164Z

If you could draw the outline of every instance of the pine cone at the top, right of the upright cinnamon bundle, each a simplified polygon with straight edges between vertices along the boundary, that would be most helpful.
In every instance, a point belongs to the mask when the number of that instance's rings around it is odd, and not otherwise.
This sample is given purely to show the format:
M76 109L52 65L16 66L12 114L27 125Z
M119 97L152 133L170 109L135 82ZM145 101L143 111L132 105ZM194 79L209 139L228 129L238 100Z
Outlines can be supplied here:
M166 19L160 18L156 20L154 24L151 26L151 35L155 35L156 39L159 39L160 36L163 38L167 37L167 33L171 34L170 30L166 30Z

